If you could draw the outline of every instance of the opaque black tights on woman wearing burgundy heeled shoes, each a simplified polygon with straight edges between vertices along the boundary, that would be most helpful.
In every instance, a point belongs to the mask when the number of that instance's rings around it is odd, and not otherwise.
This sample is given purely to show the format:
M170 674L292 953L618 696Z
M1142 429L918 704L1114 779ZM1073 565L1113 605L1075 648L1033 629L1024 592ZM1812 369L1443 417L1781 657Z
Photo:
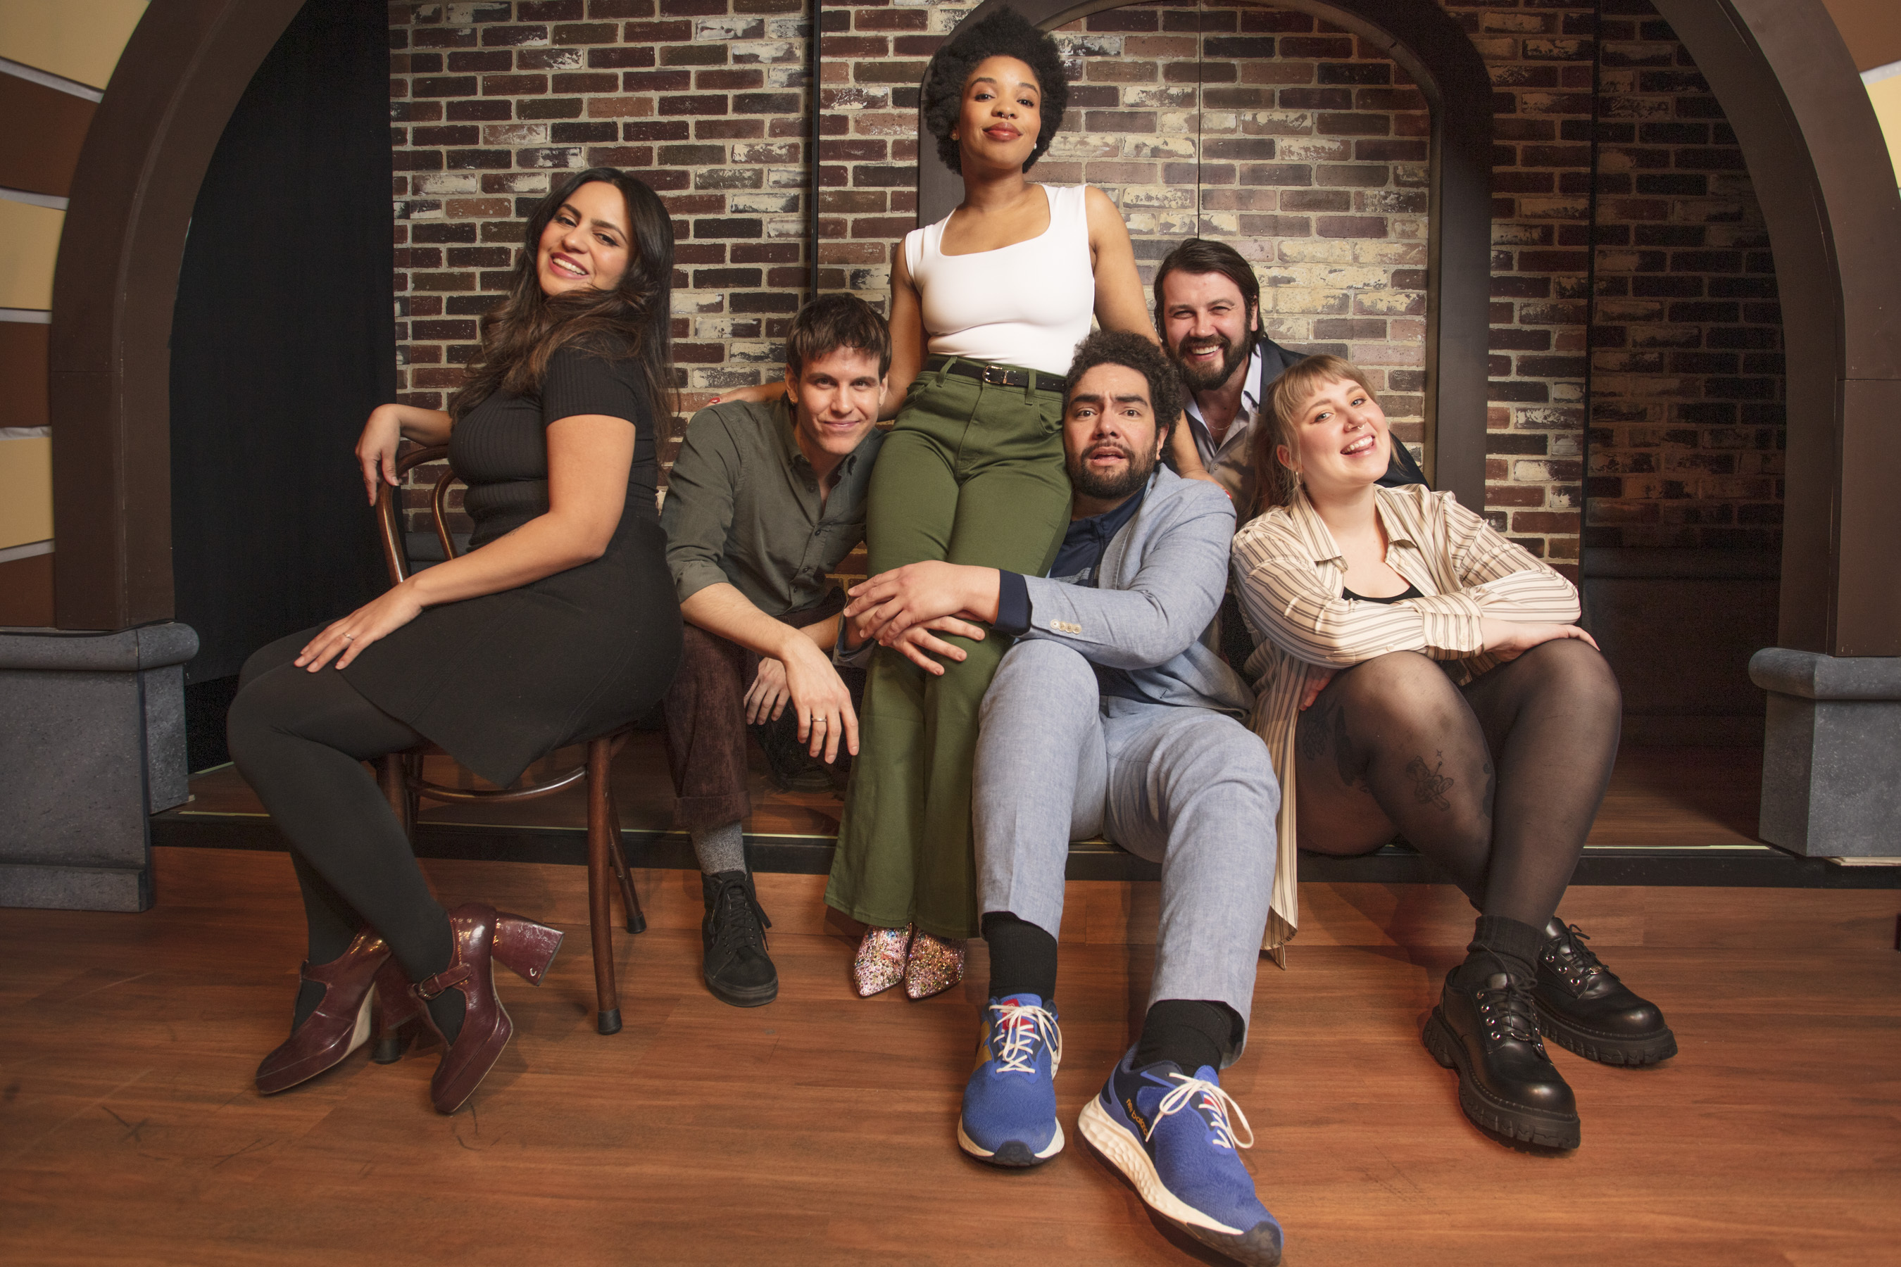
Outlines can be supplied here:
M363 767L365 760L424 739L363 699L335 669L306 672L293 665L312 633L279 638L245 663L228 720L232 760L291 842L310 963L340 955L367 923L411 980L433 976L454 957L449 914ZM306 986L295 1024L321 997L321 986ZM430 1014L452 1039L462 1024L460 992L443 992Z

